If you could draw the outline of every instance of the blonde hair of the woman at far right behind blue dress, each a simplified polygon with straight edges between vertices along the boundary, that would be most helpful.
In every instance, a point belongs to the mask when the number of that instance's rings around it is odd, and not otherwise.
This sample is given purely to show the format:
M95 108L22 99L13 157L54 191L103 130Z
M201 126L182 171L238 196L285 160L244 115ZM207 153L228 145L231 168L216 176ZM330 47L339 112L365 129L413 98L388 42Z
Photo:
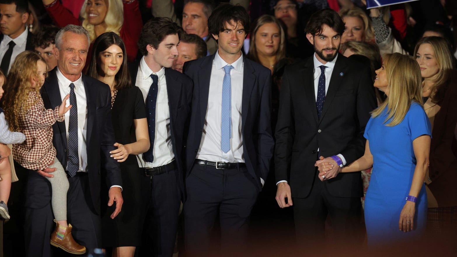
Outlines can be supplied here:
M433 55L436 58L436 64L440 67L436 80L433 81L434 85L430 93L432 102L437 104L444 98L444 90L442 89L444 89L451 78L452 69L454 68L451 52L452 46L443 37L423 37L417 42L416 47L414 47L414 57L422 44L430 44Z

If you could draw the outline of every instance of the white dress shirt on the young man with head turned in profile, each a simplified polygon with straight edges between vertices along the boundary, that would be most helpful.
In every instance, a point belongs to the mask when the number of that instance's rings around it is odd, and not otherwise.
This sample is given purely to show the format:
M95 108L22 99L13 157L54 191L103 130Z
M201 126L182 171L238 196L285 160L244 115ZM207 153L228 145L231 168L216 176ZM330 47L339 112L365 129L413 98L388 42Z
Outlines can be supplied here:
M152 163L145 162L142 154L138 154L138 165L141 167L153 168L159 167L175 160L173 146L171 144L170 131L170 108L168 105L167 81L165 79L165 68L162 67L157 73L153 72L146 64L144 57L141 58L138 67L136 86L143 93L143 99L146 101L149 88L152 85L151 74L159 77L157 103L155 106L155 131L154 131L154 148L152 154L154 161Z

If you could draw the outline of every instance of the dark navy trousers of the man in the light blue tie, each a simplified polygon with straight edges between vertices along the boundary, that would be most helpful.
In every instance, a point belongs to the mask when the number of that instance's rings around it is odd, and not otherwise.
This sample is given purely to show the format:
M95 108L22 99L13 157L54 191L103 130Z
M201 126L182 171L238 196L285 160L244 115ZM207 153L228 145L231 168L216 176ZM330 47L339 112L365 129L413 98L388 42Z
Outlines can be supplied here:
M247 243L250 212L259 194L247 168L216 169L194 164L186 178L186 193L187 256L220 256L219 251L228 254L242 250ZM213 236L217 217L220 239Z

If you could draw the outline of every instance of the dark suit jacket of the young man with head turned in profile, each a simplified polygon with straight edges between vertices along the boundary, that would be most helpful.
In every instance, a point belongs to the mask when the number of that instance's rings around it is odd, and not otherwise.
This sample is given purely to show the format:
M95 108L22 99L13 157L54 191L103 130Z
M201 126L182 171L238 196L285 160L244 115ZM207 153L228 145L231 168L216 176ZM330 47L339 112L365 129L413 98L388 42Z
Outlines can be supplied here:
M129 65L133 85L136 84L139 64L139 60L136 60ZM170 109L171 144L178 171L182 174L179 176L179 184L181 193L183 193L184 142L186 141L185 136L189 126L193 83L189 77L172 68L165 68L165 80L167 83L168 106Z

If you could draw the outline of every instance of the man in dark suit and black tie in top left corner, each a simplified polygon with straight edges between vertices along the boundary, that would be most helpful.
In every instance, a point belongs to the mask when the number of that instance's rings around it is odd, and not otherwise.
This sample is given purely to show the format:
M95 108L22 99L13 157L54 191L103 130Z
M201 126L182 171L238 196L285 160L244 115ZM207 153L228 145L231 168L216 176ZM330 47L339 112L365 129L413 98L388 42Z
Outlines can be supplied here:
M0 69L8 74L16 56L33 50L33 34L27 30L26 0L0 0Z

